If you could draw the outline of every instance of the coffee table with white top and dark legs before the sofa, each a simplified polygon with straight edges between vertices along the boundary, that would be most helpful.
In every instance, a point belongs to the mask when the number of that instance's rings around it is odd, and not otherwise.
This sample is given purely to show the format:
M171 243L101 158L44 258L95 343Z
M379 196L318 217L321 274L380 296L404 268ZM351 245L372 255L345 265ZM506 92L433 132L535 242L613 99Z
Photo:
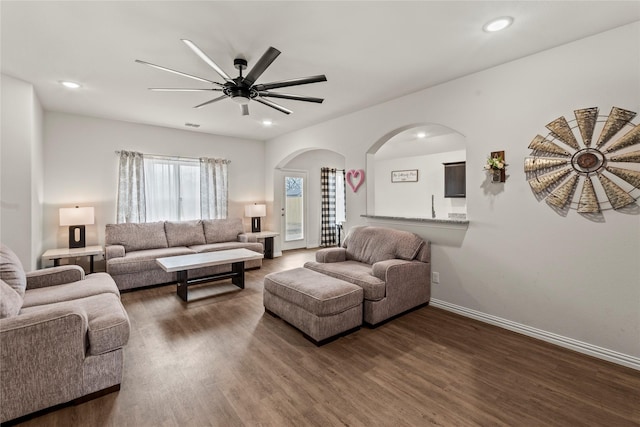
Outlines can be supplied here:
M264 256L249 249L228 249L224 251L203 252L191 255L178 255L158 258L156 262L167 273L178 273L176 292L183 301L189 301L188 287L194 283L210 282L231 278L231 282L244 289L244 262L262 259ZM198 279L187 279L187 272L195 268L231 264L231 272L214 274Z

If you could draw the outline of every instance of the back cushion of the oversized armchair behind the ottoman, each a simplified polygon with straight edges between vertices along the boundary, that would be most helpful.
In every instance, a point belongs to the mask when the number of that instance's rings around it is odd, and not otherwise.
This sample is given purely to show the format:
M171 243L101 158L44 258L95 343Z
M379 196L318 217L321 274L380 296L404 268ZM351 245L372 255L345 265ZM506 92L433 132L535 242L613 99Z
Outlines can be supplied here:
M348 260L375 264L388 259L414 259L425 242L408 231L384 227L353 227L345 238Z

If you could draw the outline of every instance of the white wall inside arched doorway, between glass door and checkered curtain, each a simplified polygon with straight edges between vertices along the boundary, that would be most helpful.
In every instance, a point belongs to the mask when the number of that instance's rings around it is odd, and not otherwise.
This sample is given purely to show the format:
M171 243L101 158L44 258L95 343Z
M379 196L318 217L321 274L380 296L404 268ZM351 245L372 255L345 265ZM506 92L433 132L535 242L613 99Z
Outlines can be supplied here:
M344 169L344 156L329 150L312 150L299 154L282 169L307 172L307 247L320 246L321 192L320 169L323 167Z

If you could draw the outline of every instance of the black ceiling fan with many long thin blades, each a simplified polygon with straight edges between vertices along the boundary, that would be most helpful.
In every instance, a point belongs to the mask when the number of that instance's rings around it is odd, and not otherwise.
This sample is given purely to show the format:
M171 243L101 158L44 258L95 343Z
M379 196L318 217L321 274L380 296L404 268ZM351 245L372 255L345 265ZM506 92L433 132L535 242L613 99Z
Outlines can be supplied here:
M148 65L153 68L157 68L159 70L168 71L173 74L177 74L183 77L189 77L194 80L198 80L205 83L211 83L216 86L208 89L189 89L189 88L149 88L149 90L154 91L165 91L165 92L200 92L200 91L214 91L214 92L222 92L217 98L209 100L207 102L203 102L202 104L196 105L194 108L201 108L205 105L213 104L214 102L218 102L225 98L231 98L232 101L235 101L240 105L242 115L249 115L249 102L254 100L261 104L264 104L268 107L274 108L282 113L291 114L292 111L283 107L282 105L278 105L275 102L266 99L266 98L281 98L281 99L292 99L294 101L305 101L305 102L316 102L322 103L324 99L322 98L314 98L311 96L302 96L302 95L294 95L288 93L278 93L278 92L270 92L270 89L277 89L282 87L289 86L298 86L305 85L309 83L317 83L317 82L326 82L327 78L324 74L320 74L317 76L311 77L300 77L297 79L289 79L282 80L279 82L272 83L262 83L256 84L256 80L260 78L262 73L271 65L271 63L280 55L280 51L274 47L270 47L267 51L262 55L262 57L258 60L258 62L253 66L251 71L246 76L242 75L242 72L247 68L247 60L244 58L236 58L233 61L233 65L239 71L239 76L235 79L229 77L227 73L224 72L222 68L220 68L206 53L204 53L195 43L190 40L182 39L182 41L193 51L196 55L200 57L204 62L207 63L211 68L213 68L220 77L225 80L225 83L219 83L213 80L204 79L202 77L194 76L191 74L183 73L181 71L172 70L171 68L162 67L160 65L152 64L150 62L141 61L136 59L136 62L144 65Z

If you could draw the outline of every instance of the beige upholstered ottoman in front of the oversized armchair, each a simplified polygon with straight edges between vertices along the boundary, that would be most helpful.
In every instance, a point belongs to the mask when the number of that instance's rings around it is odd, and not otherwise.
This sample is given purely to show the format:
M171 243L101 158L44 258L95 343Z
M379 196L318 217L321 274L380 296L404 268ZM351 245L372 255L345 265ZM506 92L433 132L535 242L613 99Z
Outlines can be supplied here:
M264 308L295 326L316 345L358 329L362 288L307 268L267 274Z

